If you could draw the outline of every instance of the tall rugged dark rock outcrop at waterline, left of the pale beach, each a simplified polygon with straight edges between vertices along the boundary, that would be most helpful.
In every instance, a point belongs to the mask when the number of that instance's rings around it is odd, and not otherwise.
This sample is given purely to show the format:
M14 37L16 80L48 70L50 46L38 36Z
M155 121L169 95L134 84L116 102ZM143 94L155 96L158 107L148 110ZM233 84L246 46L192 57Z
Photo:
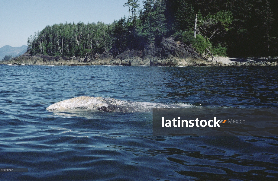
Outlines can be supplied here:
M87 55L85 60L94 65L127 66L206 66L212 61L202 58L192 46L176 42L173 38L163 38L159 46L148 45L144 51L126 50L113 57L111 52L102 55Z

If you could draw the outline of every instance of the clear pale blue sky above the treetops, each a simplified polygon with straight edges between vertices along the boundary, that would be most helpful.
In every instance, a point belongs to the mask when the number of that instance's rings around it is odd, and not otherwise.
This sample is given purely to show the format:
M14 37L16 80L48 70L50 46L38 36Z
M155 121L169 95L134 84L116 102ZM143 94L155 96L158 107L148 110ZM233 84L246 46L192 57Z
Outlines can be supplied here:
M27 38L47 25L112 23L128 15L127 0L0 0L0 48L26 45Z

